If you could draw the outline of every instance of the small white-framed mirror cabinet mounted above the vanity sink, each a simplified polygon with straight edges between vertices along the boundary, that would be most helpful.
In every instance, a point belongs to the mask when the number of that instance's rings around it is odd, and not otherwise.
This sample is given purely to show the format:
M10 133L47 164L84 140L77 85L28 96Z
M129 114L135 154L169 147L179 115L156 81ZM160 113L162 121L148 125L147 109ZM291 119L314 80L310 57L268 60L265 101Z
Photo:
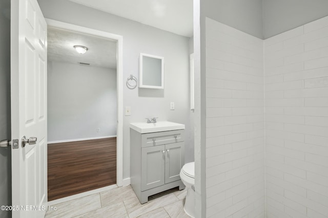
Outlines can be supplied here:
M140 54L139 88L164 88L164 58Z

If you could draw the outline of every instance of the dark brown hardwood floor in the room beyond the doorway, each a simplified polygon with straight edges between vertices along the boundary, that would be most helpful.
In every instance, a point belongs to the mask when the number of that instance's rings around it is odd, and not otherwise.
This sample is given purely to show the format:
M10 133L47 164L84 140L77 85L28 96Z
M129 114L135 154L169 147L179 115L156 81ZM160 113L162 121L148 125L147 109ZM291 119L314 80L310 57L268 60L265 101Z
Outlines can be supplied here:
M116 137L48 144L48 201L116 184Z

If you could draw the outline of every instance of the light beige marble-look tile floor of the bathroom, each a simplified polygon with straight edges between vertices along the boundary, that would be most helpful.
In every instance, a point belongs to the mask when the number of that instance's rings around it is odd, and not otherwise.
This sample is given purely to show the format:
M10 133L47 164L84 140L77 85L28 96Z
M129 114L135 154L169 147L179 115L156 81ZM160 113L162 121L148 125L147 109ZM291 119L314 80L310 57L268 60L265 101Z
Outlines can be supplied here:
M140 204L131 186L118 187L68 202L52 205L56 210L47 211L50 217L156 217L188 218L183 210L187 189L178 188L149 197Z

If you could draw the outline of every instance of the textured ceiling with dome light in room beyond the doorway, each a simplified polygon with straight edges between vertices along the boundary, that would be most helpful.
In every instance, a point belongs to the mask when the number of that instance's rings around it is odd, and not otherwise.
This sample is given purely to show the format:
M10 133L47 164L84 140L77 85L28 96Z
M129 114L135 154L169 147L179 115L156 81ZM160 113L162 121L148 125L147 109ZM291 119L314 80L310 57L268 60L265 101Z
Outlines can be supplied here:
M81 55L74 45L83 45L89 50ZM48 61L83 62L116 69L116 47L115 40L48 27Z

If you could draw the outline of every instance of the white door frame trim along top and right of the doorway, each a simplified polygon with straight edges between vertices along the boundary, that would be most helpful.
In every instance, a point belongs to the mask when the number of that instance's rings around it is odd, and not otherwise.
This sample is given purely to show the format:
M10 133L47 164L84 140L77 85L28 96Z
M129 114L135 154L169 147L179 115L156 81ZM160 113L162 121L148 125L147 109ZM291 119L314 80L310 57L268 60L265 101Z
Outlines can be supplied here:
M117 126L116 126L116 185L123 184L123 37L120 35L94 30L86 27L72 25L53 19L47 19L48 26L71 30L89 35L100 36L117 41Z

